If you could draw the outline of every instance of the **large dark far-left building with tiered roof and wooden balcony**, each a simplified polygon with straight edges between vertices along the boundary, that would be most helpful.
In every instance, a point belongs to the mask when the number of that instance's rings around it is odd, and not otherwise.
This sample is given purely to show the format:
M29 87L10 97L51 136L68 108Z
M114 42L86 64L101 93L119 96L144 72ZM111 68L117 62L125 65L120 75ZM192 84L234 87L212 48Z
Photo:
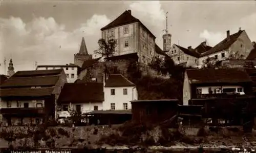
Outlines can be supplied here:
M63 70L18 71L1 84L3 122L28 125L56 119L56 102L66 82Z

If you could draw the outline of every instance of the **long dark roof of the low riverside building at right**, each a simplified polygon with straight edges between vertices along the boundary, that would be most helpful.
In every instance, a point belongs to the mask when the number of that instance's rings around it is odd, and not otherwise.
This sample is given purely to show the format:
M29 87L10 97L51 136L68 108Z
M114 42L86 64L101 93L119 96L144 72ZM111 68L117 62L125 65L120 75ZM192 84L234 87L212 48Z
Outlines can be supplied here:
M191 69L186 70L191 83L251 82L249 75L240 69Z

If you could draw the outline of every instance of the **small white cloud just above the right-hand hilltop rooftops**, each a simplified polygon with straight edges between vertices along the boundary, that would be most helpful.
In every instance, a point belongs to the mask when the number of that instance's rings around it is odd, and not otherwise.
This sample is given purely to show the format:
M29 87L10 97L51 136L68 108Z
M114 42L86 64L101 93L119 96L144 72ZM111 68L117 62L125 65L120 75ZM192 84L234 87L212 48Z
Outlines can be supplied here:
M204 30L200 33L199 37L206 39L208 45L215 46L217 43L225 38L225 34L221 32L210 32L208 30Z

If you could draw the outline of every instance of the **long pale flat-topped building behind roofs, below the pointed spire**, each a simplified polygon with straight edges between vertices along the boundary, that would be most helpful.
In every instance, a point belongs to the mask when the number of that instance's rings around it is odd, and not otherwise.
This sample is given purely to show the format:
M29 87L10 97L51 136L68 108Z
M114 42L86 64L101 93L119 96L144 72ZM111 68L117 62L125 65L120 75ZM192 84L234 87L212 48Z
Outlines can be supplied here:
M54 70L54 69L63 69L68 83L74 83L78 77L78 66L74 64L66 65L38 65L36 70Z

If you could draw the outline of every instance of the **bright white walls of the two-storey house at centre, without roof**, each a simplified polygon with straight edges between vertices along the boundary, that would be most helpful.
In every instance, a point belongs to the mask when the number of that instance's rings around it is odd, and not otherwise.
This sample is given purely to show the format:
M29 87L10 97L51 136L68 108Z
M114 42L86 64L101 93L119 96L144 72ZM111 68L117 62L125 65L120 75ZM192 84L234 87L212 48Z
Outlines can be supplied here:
M111 95L111 89L115 90L115 95ZM127 95L123 95L123 89L127 89ZM132 108L131 100L137 100L138 93L135 87L113 87L104 88L103 110L111 110L111 103L115 103L115 110L124 110L123 103L127 103L128 110Z

